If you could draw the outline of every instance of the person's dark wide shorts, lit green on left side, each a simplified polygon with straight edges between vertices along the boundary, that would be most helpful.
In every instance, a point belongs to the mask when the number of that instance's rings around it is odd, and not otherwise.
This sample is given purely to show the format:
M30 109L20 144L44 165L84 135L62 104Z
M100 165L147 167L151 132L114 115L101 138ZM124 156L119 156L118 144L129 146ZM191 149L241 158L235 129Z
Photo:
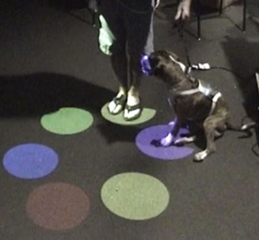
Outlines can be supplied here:
M99 47L111 55L127 50L130 56L153 52L153 6L137 11L120 0L104 0L99 6Z

